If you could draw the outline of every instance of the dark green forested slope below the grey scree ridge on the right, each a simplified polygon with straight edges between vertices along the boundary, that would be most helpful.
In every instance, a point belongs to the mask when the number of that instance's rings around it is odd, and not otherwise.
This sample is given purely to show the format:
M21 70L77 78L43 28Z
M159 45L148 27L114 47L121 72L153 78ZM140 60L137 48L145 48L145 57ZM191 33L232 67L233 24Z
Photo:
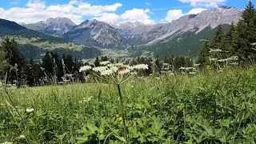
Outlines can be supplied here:
M222 29L227 30L230 26L223 25ZM194 32L186 32L185 34L178 35L173 38L165 38L159 42L154 43L150 46L141 46L138 47L137 52L142 54L142 51L153 52L154 56L159 56L159 58L165 58L168 54L183 54L189 57L195 57L200 50L202 42L201 39L208 38L211 40L214 37L214 33L217 30L210 29L207 27L205 30L202 30L198 34Z

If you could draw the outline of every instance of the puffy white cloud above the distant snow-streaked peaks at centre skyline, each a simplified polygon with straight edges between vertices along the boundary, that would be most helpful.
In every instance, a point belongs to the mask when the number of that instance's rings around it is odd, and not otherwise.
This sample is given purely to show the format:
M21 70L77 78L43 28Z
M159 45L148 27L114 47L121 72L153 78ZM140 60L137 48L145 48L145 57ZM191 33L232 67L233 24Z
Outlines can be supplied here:
M154 20L150 19L149 14L150 10L142 10L142 9L133 9L126 10L124 14L121 15L122 20L125 22L143 22L145 24L154 24Z

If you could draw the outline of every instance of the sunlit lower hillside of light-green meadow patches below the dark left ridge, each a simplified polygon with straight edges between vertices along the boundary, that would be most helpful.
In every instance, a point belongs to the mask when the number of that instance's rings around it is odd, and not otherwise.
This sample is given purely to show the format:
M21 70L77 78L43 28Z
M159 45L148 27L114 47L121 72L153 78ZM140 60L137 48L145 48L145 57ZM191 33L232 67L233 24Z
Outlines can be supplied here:
M24 38L22 36L10 36L20 44L21 54L25 58L41 59L46 51L56 52L58 55L71 54L74 58L85 59L102 55L98 48L78 45L74 42L50 42L41 38ZM0 42L2 38L0 38Z

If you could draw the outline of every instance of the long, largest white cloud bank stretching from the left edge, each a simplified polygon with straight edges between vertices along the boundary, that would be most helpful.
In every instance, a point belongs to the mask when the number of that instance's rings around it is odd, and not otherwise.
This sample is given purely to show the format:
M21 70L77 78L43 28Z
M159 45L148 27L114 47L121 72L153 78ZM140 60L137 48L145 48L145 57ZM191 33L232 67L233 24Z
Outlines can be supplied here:
M0 8L0 18L14 22L33 23L46 21L48 18L66 17L79 24L84 16L98 17L114 12L121 7L121 3L106 6L92 6L89 3L71 0L67 4L46 6L40 0L30 0L26 7L13 7L9 10Z

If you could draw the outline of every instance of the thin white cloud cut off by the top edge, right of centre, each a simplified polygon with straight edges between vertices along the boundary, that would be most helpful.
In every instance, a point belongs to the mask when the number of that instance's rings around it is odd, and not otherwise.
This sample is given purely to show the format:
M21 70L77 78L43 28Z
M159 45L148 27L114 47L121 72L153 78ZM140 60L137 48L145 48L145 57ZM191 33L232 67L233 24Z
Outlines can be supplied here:
M178 0L182 3L190 3L191 6L217 7L227 0Z

